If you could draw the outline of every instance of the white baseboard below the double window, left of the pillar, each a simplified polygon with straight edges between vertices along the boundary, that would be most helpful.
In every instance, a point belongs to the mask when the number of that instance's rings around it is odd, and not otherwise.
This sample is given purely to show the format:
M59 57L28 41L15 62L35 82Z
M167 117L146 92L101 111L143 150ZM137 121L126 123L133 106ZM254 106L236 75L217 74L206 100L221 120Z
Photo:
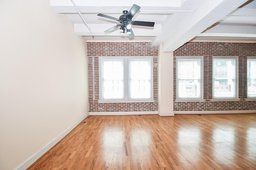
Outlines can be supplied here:
M158 111L102 111L102 112L89 112L89 115L154 115Z

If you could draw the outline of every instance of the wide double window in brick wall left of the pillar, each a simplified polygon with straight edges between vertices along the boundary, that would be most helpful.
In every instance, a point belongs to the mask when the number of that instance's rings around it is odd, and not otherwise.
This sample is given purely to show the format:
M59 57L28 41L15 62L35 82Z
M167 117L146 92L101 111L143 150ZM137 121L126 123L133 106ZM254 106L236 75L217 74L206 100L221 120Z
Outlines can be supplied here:
M105 58L99 61L100 100L152 100L152 58Z

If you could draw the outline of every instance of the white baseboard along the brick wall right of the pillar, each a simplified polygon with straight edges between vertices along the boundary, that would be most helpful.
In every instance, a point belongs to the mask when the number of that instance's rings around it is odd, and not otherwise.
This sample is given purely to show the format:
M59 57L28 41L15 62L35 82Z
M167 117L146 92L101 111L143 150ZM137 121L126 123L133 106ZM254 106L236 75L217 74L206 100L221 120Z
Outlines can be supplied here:
M256 110L174 111L174 114L256 113Z

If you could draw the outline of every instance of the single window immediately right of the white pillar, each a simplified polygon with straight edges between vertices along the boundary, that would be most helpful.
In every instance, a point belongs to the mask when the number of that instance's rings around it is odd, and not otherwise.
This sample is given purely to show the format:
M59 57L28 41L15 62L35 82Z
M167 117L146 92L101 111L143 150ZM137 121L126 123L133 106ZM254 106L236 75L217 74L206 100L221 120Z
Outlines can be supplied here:
M177 99L202 98L201 58L177 59Z

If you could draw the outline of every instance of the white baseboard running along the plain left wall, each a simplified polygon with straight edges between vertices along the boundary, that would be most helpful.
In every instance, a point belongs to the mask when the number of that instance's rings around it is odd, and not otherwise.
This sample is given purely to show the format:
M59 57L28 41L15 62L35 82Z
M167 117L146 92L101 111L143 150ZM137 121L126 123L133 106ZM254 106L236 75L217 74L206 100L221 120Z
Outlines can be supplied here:
M73 125L71 125L68 129L66 129L63 133L58 135L56 138L54 138L52 141L50 141L47 145L45 145L41 150L36 152L34 155L30 156L25 162L17 166L14 170L25 170L30 165L32 165L38 158L40 158L45 152L47 152L49 149L51 149L56 143L58 143L62 138L64 138L68 133L70 133L79 123L81 123L89 113L81 117L78 121L76 121Z

